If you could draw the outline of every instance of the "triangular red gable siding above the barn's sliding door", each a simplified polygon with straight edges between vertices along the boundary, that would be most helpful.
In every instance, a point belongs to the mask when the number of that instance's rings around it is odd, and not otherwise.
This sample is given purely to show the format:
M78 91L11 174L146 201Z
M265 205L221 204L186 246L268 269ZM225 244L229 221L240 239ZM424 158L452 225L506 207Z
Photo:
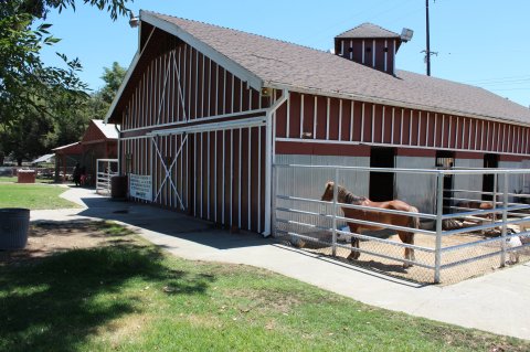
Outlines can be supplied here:
M167 39L151 56L130 89L124 131L269 105L268 98L177 39Z

